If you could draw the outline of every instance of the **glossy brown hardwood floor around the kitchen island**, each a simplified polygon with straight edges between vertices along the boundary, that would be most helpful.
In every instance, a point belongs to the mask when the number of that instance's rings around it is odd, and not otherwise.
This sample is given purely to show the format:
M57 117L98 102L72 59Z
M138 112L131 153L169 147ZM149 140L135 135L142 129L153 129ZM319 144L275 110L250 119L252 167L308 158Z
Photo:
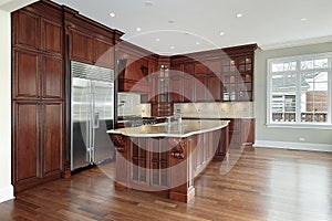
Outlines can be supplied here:
M332 220L332 154L231 150L195 180L189 203L115 191L112 176L108 164L20 192L0 220Z

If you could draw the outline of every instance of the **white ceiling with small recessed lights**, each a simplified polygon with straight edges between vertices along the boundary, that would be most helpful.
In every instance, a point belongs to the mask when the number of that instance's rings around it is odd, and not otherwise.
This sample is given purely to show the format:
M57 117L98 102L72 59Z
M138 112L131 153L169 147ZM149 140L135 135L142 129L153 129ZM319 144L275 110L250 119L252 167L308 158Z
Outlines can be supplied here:
M53 1L125 32L123 40L165 55L248 43L276 49L332 40L332 0Z

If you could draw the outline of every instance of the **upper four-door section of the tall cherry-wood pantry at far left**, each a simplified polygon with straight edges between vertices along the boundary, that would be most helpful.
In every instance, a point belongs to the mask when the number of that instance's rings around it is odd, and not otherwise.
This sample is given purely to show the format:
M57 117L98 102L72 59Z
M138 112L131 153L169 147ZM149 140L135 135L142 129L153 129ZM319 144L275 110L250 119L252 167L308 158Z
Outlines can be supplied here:
M35 3L12 13L12 97L63 99L61 8Z

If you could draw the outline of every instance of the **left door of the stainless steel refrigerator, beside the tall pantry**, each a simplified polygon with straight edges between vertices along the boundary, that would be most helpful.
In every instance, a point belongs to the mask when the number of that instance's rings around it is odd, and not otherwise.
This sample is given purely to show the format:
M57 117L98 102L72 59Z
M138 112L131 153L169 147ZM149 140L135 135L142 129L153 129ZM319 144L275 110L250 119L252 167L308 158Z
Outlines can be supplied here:
M72 133L71 170L87 166L92 161L92 103L91 81L72 78Z

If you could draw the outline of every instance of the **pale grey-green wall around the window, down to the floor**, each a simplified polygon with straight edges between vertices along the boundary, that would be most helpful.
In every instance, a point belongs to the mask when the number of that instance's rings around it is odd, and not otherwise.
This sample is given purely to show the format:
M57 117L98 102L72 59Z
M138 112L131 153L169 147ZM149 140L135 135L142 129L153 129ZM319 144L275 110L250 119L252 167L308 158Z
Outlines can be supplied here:
M257 50L255 61L256 146L332 151L332 128L267 127L267 60L332 51L332 42L270 51ZM304 141L300 141L300 137Z

